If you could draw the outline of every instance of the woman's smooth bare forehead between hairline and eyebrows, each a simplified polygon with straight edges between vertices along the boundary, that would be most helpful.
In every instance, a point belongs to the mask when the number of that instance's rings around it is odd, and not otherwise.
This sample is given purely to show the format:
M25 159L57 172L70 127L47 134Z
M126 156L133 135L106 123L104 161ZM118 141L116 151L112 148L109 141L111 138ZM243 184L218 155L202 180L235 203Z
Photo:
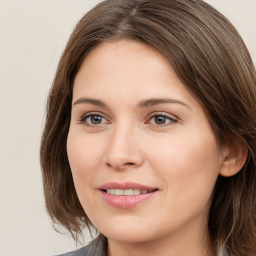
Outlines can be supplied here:
M159 51L141 42L121 40L101 43L88 53L75 76L73 100L81 94L108 93L116 98L163 97L167 91L181 98L190 95Z

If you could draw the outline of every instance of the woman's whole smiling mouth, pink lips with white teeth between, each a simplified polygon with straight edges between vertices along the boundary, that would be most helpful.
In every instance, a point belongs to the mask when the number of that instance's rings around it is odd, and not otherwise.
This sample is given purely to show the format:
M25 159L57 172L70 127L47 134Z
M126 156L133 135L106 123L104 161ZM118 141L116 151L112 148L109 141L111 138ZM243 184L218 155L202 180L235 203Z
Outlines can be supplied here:
M99 189L107 204L117 208L131 208L149 200L158 189L133 182L108 182Z

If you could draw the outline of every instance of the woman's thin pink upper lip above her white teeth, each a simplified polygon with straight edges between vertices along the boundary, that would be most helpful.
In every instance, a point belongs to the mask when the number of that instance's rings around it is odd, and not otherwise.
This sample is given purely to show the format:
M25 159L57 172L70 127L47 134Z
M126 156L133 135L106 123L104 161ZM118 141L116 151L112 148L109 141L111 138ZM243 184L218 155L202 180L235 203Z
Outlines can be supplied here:
M135 182L123 182L123 183L119 183L119 182L107 182L104 183L103 185L101 185L99 187L99 189L105 190L105 189L109 189L109 188L115 188L115 189L140 189L140 190L155 190L157 189L157 187L151 187L151 186L147 186L147 185L143 185L143 184L139 184L139 183L135 183Z

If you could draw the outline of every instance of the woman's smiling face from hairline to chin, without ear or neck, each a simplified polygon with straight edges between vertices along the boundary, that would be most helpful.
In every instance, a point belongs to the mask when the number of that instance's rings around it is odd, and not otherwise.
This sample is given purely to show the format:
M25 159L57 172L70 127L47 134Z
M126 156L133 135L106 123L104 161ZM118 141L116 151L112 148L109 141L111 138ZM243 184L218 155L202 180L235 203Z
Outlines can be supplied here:
M205 232L221 155L201 105L151 47L108 42L86 56L67 154L81 205L109 239Z

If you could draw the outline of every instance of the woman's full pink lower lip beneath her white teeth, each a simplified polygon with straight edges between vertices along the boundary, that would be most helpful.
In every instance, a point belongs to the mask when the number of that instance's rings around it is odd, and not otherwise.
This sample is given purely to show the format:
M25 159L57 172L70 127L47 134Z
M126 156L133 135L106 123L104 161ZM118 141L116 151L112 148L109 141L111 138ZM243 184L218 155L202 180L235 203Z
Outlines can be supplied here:
M117 208L132 208L140 203L150 199L157 190L145 193L145 194L137 194L137 195L115 195L109 194L104 190L100 190L101 195L104 200L111 206Z

